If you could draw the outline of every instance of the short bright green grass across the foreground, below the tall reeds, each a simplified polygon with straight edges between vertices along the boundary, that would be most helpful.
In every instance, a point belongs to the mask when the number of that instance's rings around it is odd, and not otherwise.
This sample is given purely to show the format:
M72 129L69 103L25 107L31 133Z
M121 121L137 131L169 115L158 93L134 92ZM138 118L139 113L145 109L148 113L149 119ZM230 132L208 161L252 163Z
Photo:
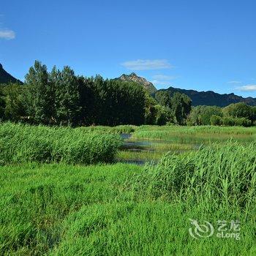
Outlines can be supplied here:
M165 190L152 200L146 186L139 198L126 181L141 168L0 167L0 255L255 255L255 206L245 217L241 207L170 200ZM191 218L240 219L241 240L196 240Z

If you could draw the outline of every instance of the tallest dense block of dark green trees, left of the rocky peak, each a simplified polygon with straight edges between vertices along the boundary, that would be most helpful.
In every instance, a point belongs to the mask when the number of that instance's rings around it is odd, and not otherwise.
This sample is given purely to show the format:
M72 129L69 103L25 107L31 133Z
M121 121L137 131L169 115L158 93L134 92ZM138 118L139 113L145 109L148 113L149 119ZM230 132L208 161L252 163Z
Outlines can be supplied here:
M36 61L26 75L26 112L34 124L144 124L146 91L134 82L83 78L69 67L50 73Z

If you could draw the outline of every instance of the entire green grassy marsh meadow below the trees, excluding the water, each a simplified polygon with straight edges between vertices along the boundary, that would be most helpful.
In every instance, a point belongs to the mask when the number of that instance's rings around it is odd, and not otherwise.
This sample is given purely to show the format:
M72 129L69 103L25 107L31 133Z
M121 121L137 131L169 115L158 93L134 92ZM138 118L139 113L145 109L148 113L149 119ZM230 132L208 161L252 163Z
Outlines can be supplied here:
M116 162L129 129L129 140L154 140L158 162ZM0 133L0 255L256 254L256 129L7 123ZM191 219L214 234L193 238ZM239 220L239 239L216 236L219 220Z

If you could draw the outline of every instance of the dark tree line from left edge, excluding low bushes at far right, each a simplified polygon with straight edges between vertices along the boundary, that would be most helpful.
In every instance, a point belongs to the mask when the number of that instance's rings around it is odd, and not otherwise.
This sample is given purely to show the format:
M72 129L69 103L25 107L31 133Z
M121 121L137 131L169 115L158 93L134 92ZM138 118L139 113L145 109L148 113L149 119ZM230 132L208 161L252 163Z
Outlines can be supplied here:
M165 99L166 98L166 99ZM0 87L1 120L50 125L185 124L191 100L159 92L151 97L137 83L75 75L35 61L25 83Z

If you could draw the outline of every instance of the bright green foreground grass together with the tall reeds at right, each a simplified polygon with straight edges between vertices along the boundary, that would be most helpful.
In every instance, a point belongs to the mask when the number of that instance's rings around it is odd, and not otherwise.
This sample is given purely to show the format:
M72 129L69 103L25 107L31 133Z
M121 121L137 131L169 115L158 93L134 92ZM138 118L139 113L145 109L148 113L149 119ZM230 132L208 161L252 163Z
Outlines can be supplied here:
M255 143L158 165L0 167L0 255L255 255ZM239 219L240 240L195 239L189 219Z

